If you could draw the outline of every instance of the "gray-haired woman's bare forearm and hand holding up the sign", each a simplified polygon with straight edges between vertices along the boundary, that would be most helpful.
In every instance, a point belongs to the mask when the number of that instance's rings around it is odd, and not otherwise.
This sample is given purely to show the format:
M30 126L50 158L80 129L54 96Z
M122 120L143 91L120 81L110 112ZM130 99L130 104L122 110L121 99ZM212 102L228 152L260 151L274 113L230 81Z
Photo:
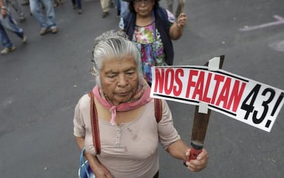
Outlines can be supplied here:
M187 160L189 158L190 148L182 140L177 140L167 147L167 152L176 159ZM208 153L205 149L198 155L197 159L187 162L187 168L193 172L198 172L206 168L208 163Z

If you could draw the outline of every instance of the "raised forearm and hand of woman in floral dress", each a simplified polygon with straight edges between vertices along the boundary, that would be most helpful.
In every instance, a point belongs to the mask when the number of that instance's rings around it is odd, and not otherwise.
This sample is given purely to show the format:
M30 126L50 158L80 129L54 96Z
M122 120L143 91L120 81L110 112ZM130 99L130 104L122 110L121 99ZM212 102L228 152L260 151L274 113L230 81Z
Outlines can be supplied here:
M178 16L178 20L169 27L169 36L172 40L178 40L182 36L183 27L187 24L187 15L181 13Z

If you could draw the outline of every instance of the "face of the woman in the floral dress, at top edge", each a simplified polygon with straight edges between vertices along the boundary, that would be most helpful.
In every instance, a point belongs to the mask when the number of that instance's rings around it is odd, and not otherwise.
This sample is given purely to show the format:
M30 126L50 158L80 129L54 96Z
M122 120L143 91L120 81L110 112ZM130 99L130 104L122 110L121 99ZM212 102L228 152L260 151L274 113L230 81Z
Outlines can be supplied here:
M151 16L154 0L134 0L134 10L138 16Z

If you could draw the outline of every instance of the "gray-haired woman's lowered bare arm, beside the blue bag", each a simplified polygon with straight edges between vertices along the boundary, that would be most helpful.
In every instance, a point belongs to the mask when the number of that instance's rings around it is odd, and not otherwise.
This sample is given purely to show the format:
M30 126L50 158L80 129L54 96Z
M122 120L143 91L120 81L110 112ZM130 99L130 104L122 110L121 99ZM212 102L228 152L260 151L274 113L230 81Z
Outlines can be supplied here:
M84 140L85 140L84 137L75 137L75 140L78 144L80 151L82 151L82 149L84 148ZM99 159L97 159L96 156L85 152L84 157L88 160L88 164L93 170L95 177L113 178L113 176L110 175L110 172L108 171L108 169L99 162Z

